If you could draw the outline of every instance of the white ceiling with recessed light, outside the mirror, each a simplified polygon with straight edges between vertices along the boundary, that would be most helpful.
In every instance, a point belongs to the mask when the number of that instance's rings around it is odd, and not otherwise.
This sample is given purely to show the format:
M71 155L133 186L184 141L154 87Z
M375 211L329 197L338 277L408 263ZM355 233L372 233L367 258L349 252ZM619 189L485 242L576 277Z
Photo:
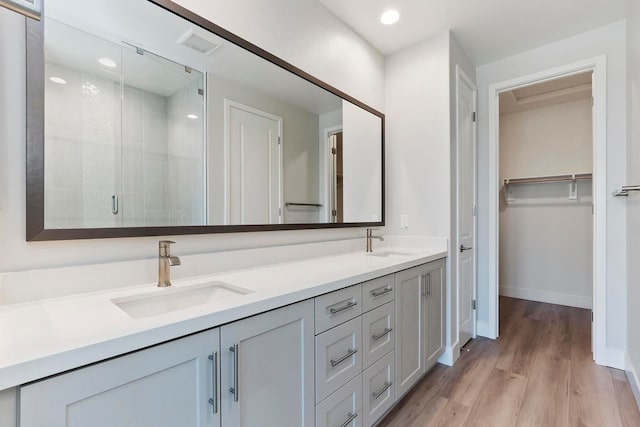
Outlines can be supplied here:
M638 0L317 0L388 55L450 29L475 65L597 28ZM395 25L381 13L400 12Z

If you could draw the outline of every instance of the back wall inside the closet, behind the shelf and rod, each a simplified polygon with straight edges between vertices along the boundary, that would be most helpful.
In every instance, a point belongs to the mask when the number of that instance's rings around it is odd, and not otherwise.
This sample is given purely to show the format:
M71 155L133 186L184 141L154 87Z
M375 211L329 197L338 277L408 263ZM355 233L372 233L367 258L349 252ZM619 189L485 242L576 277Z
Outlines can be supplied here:
M508 95L507 95L508 96ZM592 171L591 99L500 116L500 181ZM591 183L511 187L501 197L500 294L591 308Z

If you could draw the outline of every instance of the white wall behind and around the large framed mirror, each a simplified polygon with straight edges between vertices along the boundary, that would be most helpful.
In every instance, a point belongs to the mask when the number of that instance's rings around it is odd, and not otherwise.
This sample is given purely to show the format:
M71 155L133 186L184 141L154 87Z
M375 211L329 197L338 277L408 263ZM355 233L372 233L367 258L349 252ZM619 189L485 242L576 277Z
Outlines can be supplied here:
M181 1L340 90L382 109L382 56L315 1ZM25 242L24 18L0 8L0 271L157 256L157 237ZM360 229L176 236L176 254L360 237Z

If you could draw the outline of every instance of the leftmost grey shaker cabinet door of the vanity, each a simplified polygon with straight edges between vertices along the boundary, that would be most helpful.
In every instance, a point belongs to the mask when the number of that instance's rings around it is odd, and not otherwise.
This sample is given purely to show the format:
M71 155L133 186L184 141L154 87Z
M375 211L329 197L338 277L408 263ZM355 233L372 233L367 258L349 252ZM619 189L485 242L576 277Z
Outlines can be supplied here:
M212 329L22 386L19 425L218 427L218 345Z

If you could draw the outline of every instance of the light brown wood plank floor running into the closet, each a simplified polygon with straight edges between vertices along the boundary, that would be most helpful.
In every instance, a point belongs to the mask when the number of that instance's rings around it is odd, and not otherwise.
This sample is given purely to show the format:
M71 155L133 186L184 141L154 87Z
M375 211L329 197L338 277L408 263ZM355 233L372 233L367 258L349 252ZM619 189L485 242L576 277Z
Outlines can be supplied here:
M592 360L589 310L500 297L500 325L497 340L436 365L379 427L640 426L624 372Z

